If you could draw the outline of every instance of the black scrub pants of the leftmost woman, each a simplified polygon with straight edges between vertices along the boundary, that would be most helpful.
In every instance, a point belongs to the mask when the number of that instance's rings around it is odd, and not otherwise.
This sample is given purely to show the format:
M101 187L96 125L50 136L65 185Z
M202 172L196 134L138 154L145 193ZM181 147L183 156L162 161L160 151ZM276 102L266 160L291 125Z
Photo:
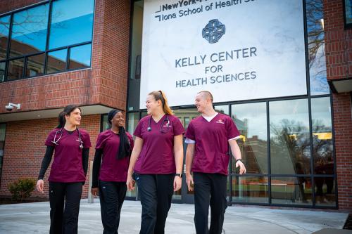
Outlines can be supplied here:
M49 182L50 234L77 233L82 185Z

